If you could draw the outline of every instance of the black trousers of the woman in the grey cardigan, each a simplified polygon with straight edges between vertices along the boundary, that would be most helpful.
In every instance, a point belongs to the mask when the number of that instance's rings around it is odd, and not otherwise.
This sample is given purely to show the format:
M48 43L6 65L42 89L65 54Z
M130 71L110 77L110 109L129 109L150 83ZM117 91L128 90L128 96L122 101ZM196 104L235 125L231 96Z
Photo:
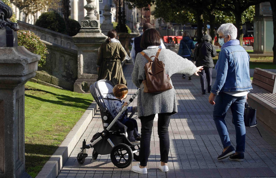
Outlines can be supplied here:
M141 140L140 140L140 165L147 166L148 154L150 151L151 144L151 133L153 126L153 119L155 114L150 116L140 117L141 120ZM170 138L169 138L169 124L170 124L171 113L160 113L158 114L158 136L159 136L159 147L160 147L160 161L167 163L169 158Z

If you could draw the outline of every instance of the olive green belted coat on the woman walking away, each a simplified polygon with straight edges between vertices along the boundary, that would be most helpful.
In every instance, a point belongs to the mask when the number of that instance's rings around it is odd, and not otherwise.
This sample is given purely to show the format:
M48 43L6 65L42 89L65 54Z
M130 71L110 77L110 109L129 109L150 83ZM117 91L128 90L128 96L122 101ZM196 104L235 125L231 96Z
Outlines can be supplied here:
M100 68L97 81L105 79L111 81L114 86L127 85L121 65L126 55L120 43L103 42L97 61L97 66Z

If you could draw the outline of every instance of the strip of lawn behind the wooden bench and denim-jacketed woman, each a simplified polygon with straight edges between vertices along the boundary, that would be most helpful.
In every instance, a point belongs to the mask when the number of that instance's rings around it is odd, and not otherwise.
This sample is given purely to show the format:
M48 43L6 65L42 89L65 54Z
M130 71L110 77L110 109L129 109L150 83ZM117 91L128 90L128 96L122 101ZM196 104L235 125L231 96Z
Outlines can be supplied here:
M217 57L213 58L214 64L217 63ZM273 64L273 57L251 57L249 61L249 68L261 69L276 69L276 65Z

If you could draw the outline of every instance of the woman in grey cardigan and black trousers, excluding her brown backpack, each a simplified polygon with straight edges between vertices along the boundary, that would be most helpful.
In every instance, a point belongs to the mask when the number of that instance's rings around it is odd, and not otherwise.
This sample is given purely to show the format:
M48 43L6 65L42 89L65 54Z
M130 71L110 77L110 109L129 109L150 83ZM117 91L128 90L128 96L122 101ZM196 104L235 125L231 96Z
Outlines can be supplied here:
M156 55L160 45L160 34L155 29L148 29L144 31L141 39L141 47L144 48L144 53L149 57ZM169 49L162 49L159 54L159 61L163 61L166 73L171 77L174 73L184 73L188 76L200 72L203 68L196 67L193 62L178 56ZM146 168L148 163L148 154L150 150L151 132L153 126L153 119L158 113L158 135L160 140L160 155L161 163L159 169L162 172L169 170L167 166L168 154L170 147L168 127L170 124L170 117L177 113L177 101L175 97L174 87L162 93L144 93L143 80L146 79L145 64L148 60L138 53L135 59L135 65L132 72L132 81L134 85L141 90L138 93L138 117L141 121L141 142L140 142L140 164L133 166L133 172L147 174ZM171 82L171 81L170 81ZM171 82L172 85L172 82ZM172 85L173 86L173 85Z

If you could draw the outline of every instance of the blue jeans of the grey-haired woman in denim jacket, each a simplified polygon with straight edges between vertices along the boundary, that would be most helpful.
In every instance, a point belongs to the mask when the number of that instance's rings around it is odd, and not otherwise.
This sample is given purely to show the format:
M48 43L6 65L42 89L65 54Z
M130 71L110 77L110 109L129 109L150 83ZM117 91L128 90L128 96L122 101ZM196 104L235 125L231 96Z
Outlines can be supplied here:
M224 92L220 92L215 98L216 104L213 111L213 119L215 121L220 140L223 144L223 148L231 145L227 126L224 120L227 110L231 108L236 130L236 152L244 152L245 126L243 121L243 113L245 101L246 96L234 97Z

